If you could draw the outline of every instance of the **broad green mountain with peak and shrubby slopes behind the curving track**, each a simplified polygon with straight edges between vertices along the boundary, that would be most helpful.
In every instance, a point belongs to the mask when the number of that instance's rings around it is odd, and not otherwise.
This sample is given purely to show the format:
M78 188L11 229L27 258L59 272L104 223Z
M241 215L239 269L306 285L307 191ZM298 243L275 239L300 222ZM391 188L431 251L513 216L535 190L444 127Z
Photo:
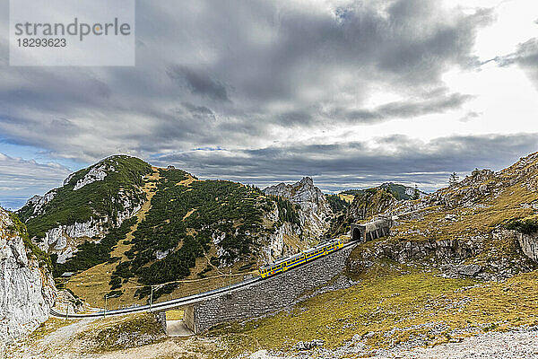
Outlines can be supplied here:
M123 155L74 172L18 214L50 254L58 287L94 306L105 294L119 305L144 301L149 285L247 274L309 243L299 206L285 198ZM164 285L153 298L196 289L187 287Z

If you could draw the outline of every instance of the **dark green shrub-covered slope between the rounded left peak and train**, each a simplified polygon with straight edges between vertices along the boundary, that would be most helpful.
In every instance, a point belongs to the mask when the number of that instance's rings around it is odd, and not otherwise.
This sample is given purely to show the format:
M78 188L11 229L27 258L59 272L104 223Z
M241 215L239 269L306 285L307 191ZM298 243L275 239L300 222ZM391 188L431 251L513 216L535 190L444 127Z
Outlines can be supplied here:
M142 298L151 291L147 285L175 282L193 271L204 277L217 267L237 262L248 269L256 264L261 241L274 226L299 223L289 201L265 197L257 188L224 180L193 180L180 170L159 172L151 208L112 275L112 289L120 289L133 278L146 285L136 291ZM265 215L275 207L280 209L279 220L267 226ZM204 267L199 267L198 259L204 259ZM165 285L154 297L177 286Z

